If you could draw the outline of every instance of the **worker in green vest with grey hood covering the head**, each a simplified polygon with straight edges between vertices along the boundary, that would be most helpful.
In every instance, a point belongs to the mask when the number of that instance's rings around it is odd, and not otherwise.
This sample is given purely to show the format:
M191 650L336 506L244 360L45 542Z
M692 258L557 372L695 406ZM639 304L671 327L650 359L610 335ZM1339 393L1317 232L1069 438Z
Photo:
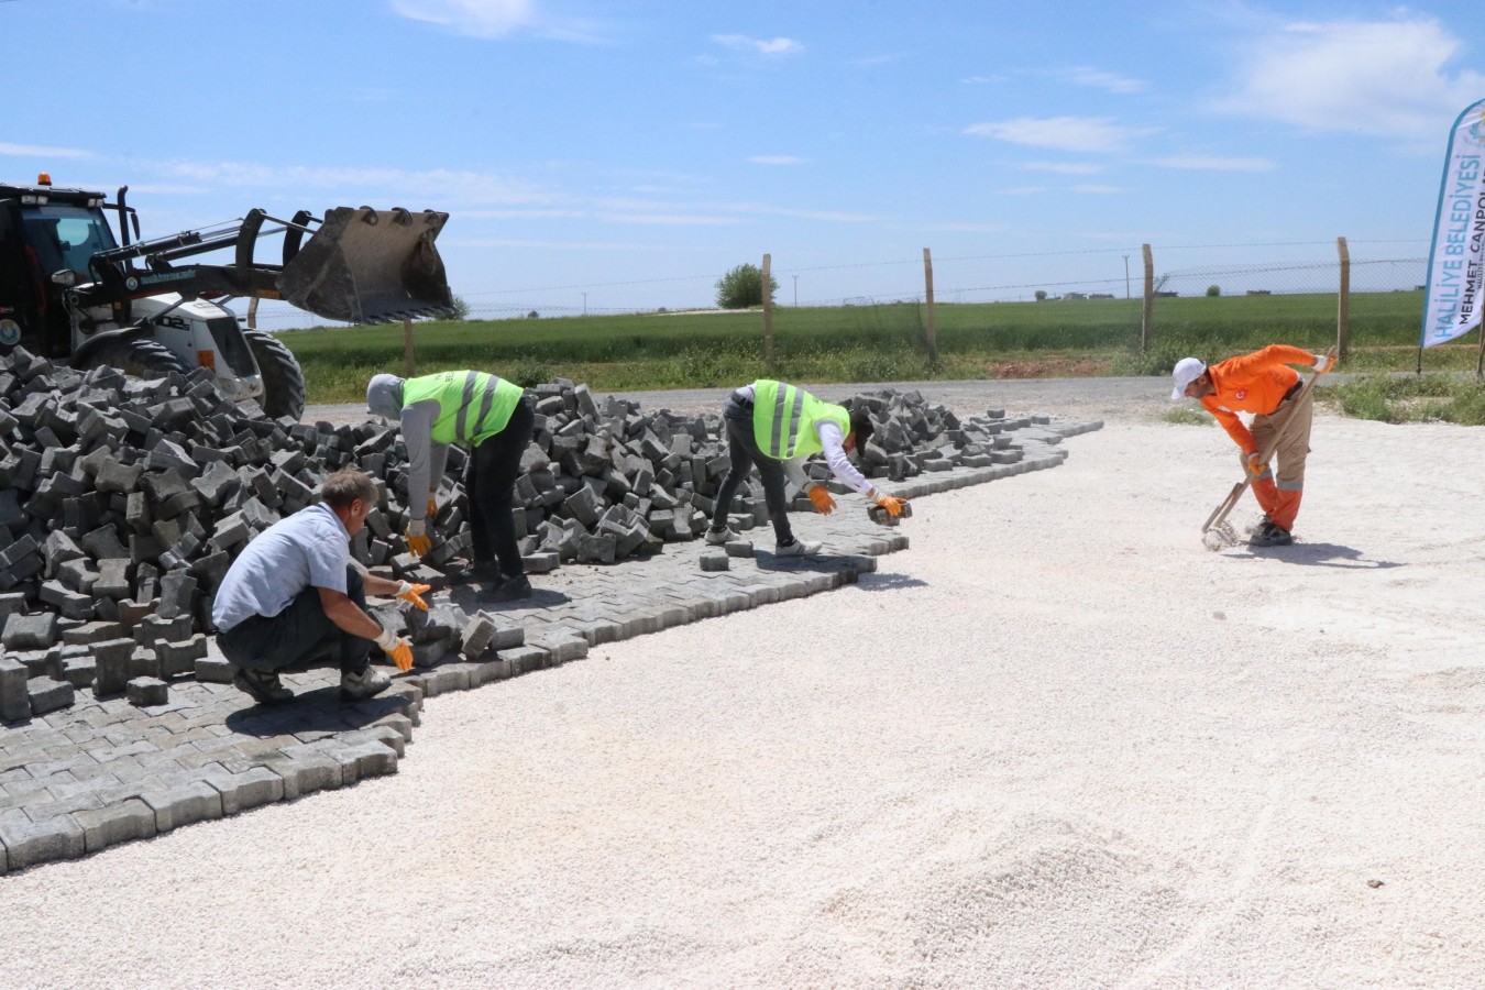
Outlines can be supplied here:
M438 479L444 476L448 445L463 444L469 447L463 484L474 536L472 567L465 580L493 583L486 594L496 601L530 598L532 583L524 574L511 515L521 454L536 424L530 396L514 381L483 371L444 371L419 378L379 374L367 384L367 407L402 427L408 549L419 557L432 549L428 527L438 512Z

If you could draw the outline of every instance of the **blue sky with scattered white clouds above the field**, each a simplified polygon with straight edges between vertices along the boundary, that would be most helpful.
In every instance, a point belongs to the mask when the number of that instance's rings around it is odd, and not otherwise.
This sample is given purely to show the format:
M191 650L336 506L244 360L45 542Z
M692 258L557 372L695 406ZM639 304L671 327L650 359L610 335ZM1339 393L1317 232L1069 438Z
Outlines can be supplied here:
M0 0L0 178L128 184L146 236L252 206L447 211L477 313L705 306L765 251L783 304L921 292L924 248L949 301L1121 294L1140 243L1161 272L1325 261L1336 236L1426 257L1446 131L1485 96L1481 22L1368 0Z

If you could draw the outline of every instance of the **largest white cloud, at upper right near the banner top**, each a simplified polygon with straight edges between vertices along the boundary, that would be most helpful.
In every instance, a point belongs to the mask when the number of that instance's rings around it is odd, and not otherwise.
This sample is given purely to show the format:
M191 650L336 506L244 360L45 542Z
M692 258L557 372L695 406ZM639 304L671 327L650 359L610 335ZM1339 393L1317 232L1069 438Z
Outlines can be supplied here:
M1436 19L1290 22L1255 37L1227 113L1314 131L1433 137L1478 99L1485 74L1451 68L1463 42Z

